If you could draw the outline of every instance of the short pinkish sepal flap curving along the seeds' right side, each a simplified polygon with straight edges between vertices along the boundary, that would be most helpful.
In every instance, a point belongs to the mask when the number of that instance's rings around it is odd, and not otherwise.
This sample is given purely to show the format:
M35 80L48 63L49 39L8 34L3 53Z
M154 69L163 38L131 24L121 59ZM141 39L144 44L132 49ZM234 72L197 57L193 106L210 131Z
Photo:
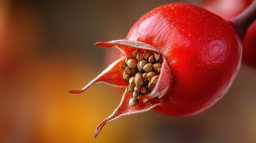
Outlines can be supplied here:
M172 75L171 68L169 67L166 60L162 64L161 74L159 76L158 82L156 83L155 88L150 92L150 94L143 96L143 102L147 102L153 98L161 98L169 91L172 85Z

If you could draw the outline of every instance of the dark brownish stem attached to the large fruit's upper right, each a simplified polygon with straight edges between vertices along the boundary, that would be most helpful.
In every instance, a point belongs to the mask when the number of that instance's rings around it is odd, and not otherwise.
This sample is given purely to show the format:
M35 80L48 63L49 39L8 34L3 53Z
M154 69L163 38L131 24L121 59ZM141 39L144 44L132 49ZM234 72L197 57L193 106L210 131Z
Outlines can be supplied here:
M248 8L242 13L233 17L229 22L235 27L241 40L245 37L246 30L256 18L256 0L254 0Z

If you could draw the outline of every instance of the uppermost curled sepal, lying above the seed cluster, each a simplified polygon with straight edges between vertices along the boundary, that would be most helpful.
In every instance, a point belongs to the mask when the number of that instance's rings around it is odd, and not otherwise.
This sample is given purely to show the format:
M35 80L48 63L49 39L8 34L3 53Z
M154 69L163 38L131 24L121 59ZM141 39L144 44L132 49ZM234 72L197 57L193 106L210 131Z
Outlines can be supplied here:
M111 48L116 46L120 51L122 51L125 55L131 55L132 51L135 49L149 49L150 51L159 52L152 45L147 43L138 42L138 41L130 41L130 40L115 40L109 42L97 42L95 43L97 46L104 46L106 48Z

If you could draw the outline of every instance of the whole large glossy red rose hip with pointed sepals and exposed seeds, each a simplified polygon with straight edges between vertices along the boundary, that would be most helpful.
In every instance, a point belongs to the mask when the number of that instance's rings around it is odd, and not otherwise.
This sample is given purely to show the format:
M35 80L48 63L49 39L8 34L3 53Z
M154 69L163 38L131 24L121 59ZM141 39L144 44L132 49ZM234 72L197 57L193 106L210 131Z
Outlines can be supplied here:
M98 125L95 136L107 122L127 114L153 109L168 116L189 116L206 110L232 85L240 67L242 50L239 36L229 22L188 4L155 8L134 24L125 40L98 42L96 45L115 46L124 57L107 67L84 88L70 92L81 93L101 82L128 88L114 113ZM144 56L148 52L151 58ZM162 61L157 60L159 55ZM132 60L129 62L129 59ZM135 73L122 70L124 65L132 69L138 63L139 67L141 60L149 65L160 64L161 68L154 67L154 70L143 65L143 70L138 68ZM149 83L141 75L150 71L156 74L154 81L157 82L149 91L153 78L148 79ZM136 85L132 88L134 92L129 91L132 78ZM128 80L129 83L125 82ZM147 92L141 90L139 94L143 94L133 104L131 100L137 97L135 91L143 88L144 84L149 84Z

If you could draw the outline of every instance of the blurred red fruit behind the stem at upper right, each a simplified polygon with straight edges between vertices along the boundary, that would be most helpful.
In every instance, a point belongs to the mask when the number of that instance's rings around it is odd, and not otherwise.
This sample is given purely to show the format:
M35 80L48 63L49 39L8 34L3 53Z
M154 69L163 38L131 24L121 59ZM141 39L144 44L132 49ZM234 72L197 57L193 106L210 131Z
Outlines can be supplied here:
M252 0L210 0L203 7L229 20L245 10L251 2ZM242 61L256 67L256 21L248 28L243 40Z

